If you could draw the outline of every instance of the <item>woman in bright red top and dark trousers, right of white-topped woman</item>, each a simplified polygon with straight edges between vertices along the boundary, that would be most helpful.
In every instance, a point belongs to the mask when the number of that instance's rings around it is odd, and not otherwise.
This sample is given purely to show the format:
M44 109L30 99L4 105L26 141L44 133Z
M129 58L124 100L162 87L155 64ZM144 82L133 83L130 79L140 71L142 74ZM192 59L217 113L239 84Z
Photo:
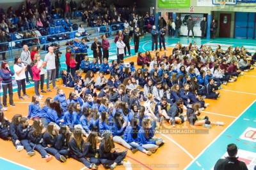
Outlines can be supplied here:
M32 70L32 74L33 74L33 81L35 83L35 93L36 96L39 97L39 99L42 99L42 95L39 94L39 81L40 81L40 72L41 72L41 67L38 67L38 61L37 60L33 60L33 66L31 67Z

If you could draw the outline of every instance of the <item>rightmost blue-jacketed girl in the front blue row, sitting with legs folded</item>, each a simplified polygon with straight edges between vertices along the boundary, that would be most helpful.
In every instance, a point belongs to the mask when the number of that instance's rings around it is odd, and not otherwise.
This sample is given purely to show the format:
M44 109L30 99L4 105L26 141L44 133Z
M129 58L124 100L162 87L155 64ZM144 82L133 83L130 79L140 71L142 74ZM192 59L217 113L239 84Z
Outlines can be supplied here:
M153 137L154 130L150 125L150 119L145 118L142 120L140 131L138 132L138 143L145 150L155 153L159 145L163 145L163 139Z

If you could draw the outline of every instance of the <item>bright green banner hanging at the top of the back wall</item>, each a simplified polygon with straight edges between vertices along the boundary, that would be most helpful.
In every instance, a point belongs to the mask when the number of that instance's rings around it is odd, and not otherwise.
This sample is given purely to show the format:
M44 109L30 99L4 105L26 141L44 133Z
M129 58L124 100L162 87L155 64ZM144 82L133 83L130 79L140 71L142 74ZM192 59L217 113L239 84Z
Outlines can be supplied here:
M189 8L190 0L157 0L158 8Z

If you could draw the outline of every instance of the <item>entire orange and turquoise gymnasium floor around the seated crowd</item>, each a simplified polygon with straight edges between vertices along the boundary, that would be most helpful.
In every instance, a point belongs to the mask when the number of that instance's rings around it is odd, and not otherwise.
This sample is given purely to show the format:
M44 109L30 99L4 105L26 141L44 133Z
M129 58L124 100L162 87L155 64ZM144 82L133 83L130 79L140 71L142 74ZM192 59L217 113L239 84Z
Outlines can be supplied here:
M145 36L140 40L140 50L151 50L150 36ZM256 50L255 39L200 39L200 38L166 38L166 46L168 48L167 55L170 55L172 48L180 41L182 45L188 45L189 42L196 41L200 46L202 43L211 45L213 48L220 44L225 49L228 46L241 46L252 51ZM131 43L133 45L133 41ZM133 47L133 46L132 46ZM89 50L90 51L90 50ZM132 49L132 55L134 50ZM115 43L111 43L109 60L116 59ZM92 52L89 52L92 55ZM128 57L125 62L136 62L136 57ZM61 68L65 68L65 53L61 55ZM60 81L61 82L61 81ZM61 86L61 83L57 84ZM137 152L132 154L128 151L126 166L120 166L116 169L211 169L215 162L225 155L226 146L229 143L236 143L239 148L239 159L244 160L249 169L256 164L256 71L252 70L248 73L244 72L244 76L240 76L235 83L223 85L223 89L219 90L221 97L216 100L205 99L210 106L202 111L202 115L207 115L212 122L225 122L224 126L212 126L211 129L204 127L192 127L185 122L173 128L168 123L163 125L162 131L156 134L157 137L164 139L165 144L151 156ZM24 101L17 99L17 89L14 86L13 99L15 107L8 107L8 111L4 112L10 120L14 114L20 113L24 116L28 115L28 104L31 103L31 97ZM46 85L45 85L46 86ZM34 94L33 84L27 86L29 96ZM70 90L60 87L65 91L66 96ZM43 94L46 97L54 97L56 90ZM42 100L42 103L44 102ZM189 131L188 131L189 130ZM120 151L124 147L117 145ZM11 141L3 141L0 139L0 169L83 169L83 164L73 159L61 163L56 159L45 162L40 158L40 154L29 157L26 151L17 152ZM99 169L104 169L100 167Z

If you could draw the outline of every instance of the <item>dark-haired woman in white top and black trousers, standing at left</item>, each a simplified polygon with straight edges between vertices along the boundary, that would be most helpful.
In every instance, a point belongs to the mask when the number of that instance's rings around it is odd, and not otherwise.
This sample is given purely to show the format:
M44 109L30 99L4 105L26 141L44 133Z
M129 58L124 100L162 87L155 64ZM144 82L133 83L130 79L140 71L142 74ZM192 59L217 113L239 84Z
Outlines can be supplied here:
M21 62L20 57L16 57L14 59L14 65L13 65L13 70L14 70L14 77L18 85L18 96L20 100L24 100L23 97L29 97L26 94L26 83L25 83L25 71L27 69L28 65L25 65L24 63ZM20 90L22 87L22 92L23 92L23 97L20 96Z

